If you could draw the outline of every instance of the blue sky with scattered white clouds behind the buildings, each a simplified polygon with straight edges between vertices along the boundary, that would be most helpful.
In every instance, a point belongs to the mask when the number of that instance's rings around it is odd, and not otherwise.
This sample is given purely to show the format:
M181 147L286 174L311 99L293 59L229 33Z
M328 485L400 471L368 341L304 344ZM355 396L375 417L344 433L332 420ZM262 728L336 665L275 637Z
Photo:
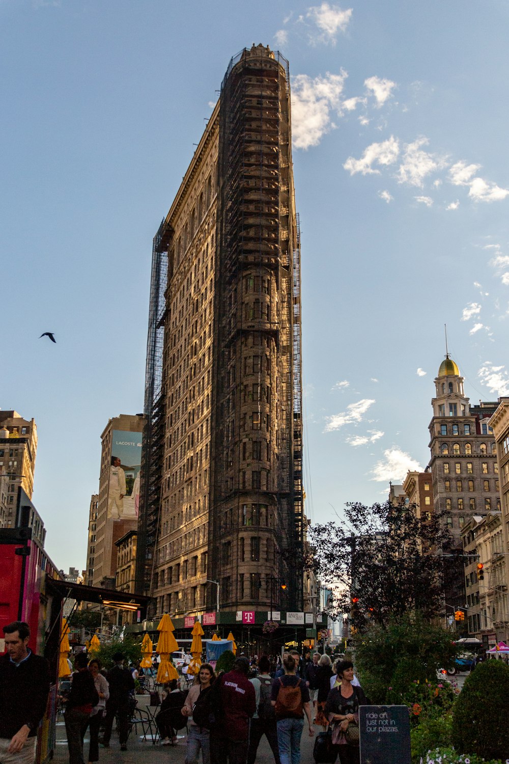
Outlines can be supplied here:
M427 465L444 325L472 402L509 394L508 17L506 0L0 0L0 406L37 422L58 568L85 567L102 430L143 410L153 235L253 43L291 74L308 515Z

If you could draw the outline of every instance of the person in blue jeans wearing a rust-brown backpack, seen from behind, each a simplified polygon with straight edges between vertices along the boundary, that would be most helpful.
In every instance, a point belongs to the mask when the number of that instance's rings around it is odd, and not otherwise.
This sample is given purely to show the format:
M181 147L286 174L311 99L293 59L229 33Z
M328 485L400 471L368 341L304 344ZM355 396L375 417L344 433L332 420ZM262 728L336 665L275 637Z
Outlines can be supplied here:
M308 685L296 676L297 661L285 653L285 675L272 681L271 701L275 709L281 764L299 764L304 712L308 717L309 736L314 736Z

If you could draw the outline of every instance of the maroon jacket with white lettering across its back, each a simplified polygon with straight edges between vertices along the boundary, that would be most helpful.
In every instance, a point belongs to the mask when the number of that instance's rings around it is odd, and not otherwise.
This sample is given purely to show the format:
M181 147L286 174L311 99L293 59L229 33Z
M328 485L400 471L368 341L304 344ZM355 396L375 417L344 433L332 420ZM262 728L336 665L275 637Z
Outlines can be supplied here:
M222 737L230 740L247 740L250 718L256 711L255 690L245 674L230 671L221 682L221 704L223 707Z

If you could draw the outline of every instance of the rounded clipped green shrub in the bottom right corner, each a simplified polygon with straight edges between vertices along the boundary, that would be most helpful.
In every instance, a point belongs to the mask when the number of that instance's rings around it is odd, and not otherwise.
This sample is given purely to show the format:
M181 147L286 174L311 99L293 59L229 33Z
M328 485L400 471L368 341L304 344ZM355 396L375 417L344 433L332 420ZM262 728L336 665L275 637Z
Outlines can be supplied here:
M453 708L453 746L485 759L509 756L509 669L498 660L477 666Z

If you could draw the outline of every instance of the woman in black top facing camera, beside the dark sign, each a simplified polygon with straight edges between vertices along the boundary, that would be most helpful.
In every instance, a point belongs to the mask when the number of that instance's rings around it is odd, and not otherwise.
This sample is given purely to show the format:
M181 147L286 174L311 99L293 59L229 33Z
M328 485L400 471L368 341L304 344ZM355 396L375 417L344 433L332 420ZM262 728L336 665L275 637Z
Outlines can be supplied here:
M345 733L350 724L359 726L359 706L367 705L368 701L362 688L352 685L353 663L351 661L338 663L336 672L341 679L341 684L330 691L324 714L328 717L330 724L334 725L332 739L337 745L341 764L358 764L359 743L358 741L354 744L348 743Z

